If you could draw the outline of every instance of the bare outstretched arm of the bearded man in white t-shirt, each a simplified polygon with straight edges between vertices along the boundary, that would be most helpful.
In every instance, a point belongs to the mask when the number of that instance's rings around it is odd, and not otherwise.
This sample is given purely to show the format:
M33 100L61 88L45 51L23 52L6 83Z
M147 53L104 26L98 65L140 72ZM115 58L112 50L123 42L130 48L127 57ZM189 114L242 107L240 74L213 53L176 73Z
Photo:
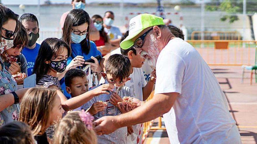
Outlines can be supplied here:
M98 126L95 132L99 134L110 134L120 127L136 125L153 120L167 113L173 106L178 93L156 94L154 97L138 108L119 116L105 116L95 121Z

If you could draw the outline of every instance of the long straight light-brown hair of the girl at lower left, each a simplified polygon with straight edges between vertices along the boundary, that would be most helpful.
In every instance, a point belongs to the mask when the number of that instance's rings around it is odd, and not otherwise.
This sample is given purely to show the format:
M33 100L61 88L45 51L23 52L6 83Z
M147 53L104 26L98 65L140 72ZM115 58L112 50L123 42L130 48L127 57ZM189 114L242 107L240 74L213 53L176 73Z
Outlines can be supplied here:
M31 127L34 136L43 135L49 126L48 118L56 96L58 95L54 89L34 87L22 97L19 120Z

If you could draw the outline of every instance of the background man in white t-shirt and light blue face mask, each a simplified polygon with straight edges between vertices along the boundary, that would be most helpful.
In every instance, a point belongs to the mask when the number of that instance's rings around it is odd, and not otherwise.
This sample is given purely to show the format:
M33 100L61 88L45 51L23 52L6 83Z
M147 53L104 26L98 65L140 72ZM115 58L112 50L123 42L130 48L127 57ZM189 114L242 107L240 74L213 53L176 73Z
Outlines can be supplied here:
M107 11L103 17L103 27L105 33L109 36L109 41L112 45L119 47L119 41L122 36L119 28L113 26L114 13L112 11Z

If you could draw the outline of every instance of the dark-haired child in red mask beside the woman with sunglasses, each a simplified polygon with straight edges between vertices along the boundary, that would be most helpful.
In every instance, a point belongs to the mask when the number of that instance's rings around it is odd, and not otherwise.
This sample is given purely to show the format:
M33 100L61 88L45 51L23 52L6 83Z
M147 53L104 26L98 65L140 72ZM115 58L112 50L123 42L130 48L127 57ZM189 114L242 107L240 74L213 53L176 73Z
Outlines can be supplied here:
M17 84L22 84L27 77L27 61L21 50L28 43L28 34L21 22L17 22L18 31L14 34L13 47L1 54L6 70L10 72Z

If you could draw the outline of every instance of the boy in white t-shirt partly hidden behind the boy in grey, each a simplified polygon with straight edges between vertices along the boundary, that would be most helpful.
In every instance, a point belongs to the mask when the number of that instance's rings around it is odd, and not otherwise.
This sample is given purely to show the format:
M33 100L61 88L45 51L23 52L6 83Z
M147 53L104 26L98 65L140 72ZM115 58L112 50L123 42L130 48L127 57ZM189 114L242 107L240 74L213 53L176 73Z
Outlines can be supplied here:
M129 35L129 31L127 31L122 37L121 40L124 40ZM140 56L140 54L136 53L136 49L133 47L130 47L129 49L121 49L117 48L110 52L110 54L107 54L102 58L100 61L100 65L105 68L105 63L109 56L113 54L122 54L124 56L128 56L130 63L131 63L131 74L129 77L131 78L129 81L126 81L125 85L131 89L131 93L133 97L139 99L140 101L145 101L149 95L152 92L155 78L153 76L150 76L149 81L146 83L144 73L142 70L142 65L144 64L144 59ZM104 83L104 79L100 80L100 83ZM138 125L132 125L133 128L133 134L130 134L127 136L127 144L135 144L138 137L138 132L140 129L140 124ZM141 127L141 131L143 131L143 126ZM128 131L129 132L129 131ZM139 136L140 143L142 139L142 133Z

